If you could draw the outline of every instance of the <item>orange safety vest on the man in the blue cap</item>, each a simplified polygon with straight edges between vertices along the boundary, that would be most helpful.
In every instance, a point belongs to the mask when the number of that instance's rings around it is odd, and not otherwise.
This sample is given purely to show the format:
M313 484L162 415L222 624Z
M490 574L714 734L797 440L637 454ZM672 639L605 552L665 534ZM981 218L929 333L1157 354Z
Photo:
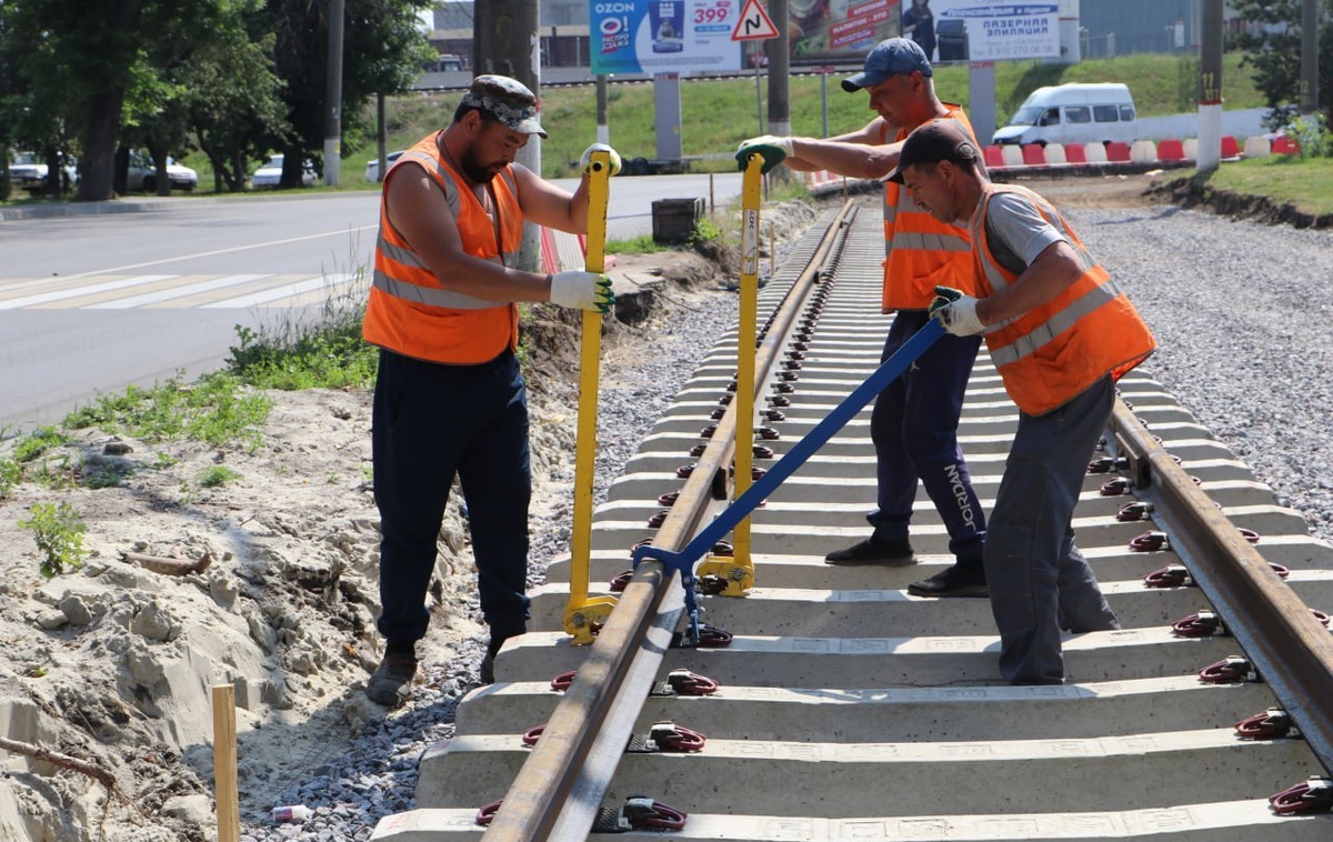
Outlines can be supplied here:
M957 120L976 144L972 123L962 113L962 107L952 103L944 103L944 107L949 109L949 119ZM910 133L912 129L900 129L897 137L889 141L885 136L884 143L902 141ZM885 181L884 312L924 310L934 300L936 286L953 286L972 294L976 292L972 273L968 230L941 222L922 210L905 187Z

